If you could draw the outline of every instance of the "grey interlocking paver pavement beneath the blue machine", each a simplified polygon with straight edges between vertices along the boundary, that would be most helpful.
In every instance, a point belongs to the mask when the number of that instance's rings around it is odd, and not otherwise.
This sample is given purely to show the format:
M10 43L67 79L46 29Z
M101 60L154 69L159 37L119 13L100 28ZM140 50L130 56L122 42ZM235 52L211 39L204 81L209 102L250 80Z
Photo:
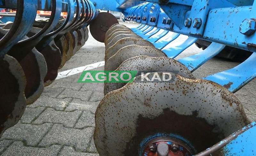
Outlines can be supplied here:
M136 26L132 23L125 25ZM180 35L167 47L177 45L185 39L186 36ZM104 44L90 35L86 44L59 72L103 61L104 49ZM177 59L200 51L201 49L192 45ZM193 74L196 78L203 78L238 64L213 58ZM104 70L104 67L93 70ZM94 114L104 96L104 84L77 83L80 75L81 73L58 79L45 87L42 96L27 106L19 123L6 130L0 138L0 155L98 156L92 134L95 127ZM251 120L256 119L255 95L255 79L236 92Z

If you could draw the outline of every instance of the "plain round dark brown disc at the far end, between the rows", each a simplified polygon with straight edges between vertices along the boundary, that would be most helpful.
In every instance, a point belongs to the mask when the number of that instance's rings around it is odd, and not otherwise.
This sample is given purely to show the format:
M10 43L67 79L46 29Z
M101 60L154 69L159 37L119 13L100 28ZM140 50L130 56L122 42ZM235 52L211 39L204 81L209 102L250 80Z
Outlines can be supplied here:
M92 37L99 42L104 42L105 34L108 29L117 24L118 21L116 17L108 12L100 12L91 24L90 24L90 32Z

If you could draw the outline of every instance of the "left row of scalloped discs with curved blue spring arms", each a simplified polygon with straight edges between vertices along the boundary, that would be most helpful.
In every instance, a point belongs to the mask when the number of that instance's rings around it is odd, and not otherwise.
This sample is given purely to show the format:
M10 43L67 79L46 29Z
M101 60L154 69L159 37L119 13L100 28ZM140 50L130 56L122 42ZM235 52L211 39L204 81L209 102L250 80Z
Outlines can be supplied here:
M58 69L84 46L87 26L98 14L89 0L49 2L0 3L17 9L14 21L0 28L0 136L20 120L26 105L40 97L44 86L56 79ZM35 21L37 10L51 11L50 18ZM63 11L68 14L64 20L60 19Z

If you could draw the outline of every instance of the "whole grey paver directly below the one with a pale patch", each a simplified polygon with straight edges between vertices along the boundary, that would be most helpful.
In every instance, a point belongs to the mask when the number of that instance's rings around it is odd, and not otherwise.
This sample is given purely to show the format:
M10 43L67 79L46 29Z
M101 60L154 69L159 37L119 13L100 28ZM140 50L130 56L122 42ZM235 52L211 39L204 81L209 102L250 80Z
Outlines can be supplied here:
M74 127L78 120L81 110L73 112L57 111L52 108L47 108L34 122L33 124L56 123L63 124L65 127Z

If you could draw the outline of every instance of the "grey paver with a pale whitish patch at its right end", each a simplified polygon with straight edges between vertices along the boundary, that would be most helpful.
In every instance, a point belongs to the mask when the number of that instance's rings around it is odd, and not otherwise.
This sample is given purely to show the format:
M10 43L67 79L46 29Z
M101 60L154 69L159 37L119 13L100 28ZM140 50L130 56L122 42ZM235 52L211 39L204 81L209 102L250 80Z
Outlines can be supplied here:
M36 102L27 105L27 108L36 108L38 106L51 107L55 110L64 110L72 98L57 99L48 96L40 96Z

